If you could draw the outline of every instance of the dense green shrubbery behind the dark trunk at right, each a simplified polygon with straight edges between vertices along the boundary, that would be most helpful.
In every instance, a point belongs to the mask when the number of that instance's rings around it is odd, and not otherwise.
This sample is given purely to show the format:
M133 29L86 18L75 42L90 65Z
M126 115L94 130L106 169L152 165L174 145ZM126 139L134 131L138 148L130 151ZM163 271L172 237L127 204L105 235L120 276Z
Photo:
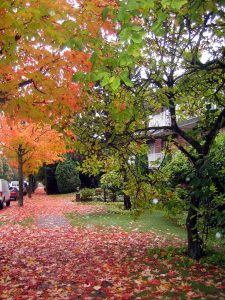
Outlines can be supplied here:
M185 225L190 198L200 198L198 226L206 240L211 239L210 231L225 234L224 149L225 134L220 133L198 172L182 153L176 153L161 170L167 186L163 203L169 218Z

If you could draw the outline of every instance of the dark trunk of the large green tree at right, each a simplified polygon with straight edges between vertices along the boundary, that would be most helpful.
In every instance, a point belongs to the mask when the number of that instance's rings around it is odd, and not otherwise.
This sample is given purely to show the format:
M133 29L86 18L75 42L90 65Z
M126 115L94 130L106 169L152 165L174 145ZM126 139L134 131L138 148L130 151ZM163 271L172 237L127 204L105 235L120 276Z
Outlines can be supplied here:
M198 233L198 212L199 207L198 200L191 200L191 205L188 210L188 216L186 220L187 238L188 238L188 256L199 260L203 252L203 241ZM196 208L196 209L195 209Z

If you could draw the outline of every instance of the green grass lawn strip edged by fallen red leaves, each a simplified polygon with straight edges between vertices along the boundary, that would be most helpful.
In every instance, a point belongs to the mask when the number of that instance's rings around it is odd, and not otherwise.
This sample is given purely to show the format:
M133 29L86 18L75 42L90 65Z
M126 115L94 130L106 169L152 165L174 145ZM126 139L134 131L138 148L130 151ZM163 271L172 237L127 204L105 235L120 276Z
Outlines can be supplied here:
M145 213L141 214L137 220L135 220L130 212L125 212L123 210L120 212L119 209L117 209L115 212L113 210L113 208L121 205L119 203L103 205L107 206L107 213L89 215L69 213L67 214L67 218L73 226L120 226L126 231L155 231L159 234L173 234L182 239L186 239L185 229L177 226L175 223L166 218L165 212L163 211L146 211Z

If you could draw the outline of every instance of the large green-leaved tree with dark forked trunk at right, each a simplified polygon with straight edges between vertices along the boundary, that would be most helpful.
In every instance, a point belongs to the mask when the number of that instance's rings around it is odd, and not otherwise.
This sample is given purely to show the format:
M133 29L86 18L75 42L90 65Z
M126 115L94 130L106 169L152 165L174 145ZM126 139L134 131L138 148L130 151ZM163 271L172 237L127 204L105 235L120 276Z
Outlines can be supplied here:
M194 166L187 183L192 195L186 221L188 253L198 259L204 252L200 211L223 193L207 171L213 142L225 125L223 3L130 0L110 12L117 34L103 38L94 49L91 74L74 77L94 86L87 91L92 95L87 111L76 120L78 143L85 143L81 150L90 156L95 152L104 159L116 153L128 171L129 157L147 154L149 141L166 140L183 152ZM150 126L150 118L161 109L169 112L170 124ZM181 121L193 116L196 126L184 131ZM88 130L82 122L89 124ZM156 191L157 176L142 177L133 170L130 192L137 199L135 189L143 196L160 195L165 190L161 186ZM146 193L149 185L152 192Z

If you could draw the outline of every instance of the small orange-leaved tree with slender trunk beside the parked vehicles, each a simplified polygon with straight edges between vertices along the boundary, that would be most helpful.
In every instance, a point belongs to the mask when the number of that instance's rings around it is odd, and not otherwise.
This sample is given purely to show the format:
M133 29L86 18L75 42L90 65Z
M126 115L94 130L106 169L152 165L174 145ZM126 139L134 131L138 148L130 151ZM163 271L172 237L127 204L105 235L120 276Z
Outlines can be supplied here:
M62 135L49 125L1 120L0 143L6 157L18 168L19 199L23 206L23 178L38 172L44 163L62 160L66 146Z

